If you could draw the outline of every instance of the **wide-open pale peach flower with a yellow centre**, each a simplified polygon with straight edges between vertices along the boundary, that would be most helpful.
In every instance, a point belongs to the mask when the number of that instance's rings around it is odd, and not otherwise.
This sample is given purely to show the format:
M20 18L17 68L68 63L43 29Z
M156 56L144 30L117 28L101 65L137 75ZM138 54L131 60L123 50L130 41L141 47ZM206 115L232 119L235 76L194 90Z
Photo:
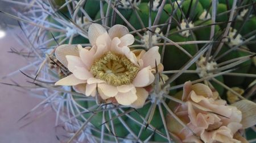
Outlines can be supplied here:
M159 47L130 51L134 36L115 25L107 32L100 24L89 27L92 47L61 45L57 59L72 73L55 85L73 86L86 96L116 101L123 106L142 107L148 97L144 87L154 82L155 65L160 65Z

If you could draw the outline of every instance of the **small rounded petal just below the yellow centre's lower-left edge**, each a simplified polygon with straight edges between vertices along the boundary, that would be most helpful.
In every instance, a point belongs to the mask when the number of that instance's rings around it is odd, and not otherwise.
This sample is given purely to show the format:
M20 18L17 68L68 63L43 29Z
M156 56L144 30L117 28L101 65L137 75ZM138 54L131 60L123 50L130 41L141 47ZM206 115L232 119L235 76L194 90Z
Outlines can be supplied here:
M117 87L105 83L98 84L98 89L100 89L102 93L108 97L114 97L118 92Z

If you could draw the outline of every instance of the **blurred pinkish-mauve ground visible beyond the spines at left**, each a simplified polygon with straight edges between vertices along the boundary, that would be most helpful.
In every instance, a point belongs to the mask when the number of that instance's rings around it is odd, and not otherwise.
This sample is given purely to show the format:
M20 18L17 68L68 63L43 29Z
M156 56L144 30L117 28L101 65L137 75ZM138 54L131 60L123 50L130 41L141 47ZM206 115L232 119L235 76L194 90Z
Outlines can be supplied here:
M0 82L11 83L10 79L2 79L2 77L27 65L27 60L24 58L8 53L10 47L22 49L14 39L13 34L16 33L20 33L19 28L8 30L7 35L0 39ZM12 76L11 79L18 83L24 83L27 78L18 73ZM26 91L21 92L18 90L19 88L17 87L0 84L0 142L60 142L56 138L58 134L55 129L56 117L55 112L52 110L26 127L20 128L26 121L30 121L23 120L18 122L20 117L43 99L28 95Z

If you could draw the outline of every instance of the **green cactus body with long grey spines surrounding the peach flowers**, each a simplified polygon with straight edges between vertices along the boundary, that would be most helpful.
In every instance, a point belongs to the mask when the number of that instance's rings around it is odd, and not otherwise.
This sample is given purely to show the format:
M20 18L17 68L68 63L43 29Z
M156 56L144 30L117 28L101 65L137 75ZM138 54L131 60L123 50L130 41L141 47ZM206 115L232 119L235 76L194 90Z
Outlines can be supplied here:
M28 74L30 66L23 73L34 79L33 84L45 89L44 103L56 110L57 120L64 121L56 125L64 125L70 133L63 140L173 142L176 139L168 131L167 114L174 109L171 103L177 102L176 96L180 96L186 81L205 83L218 91L221 99L227 99L228 92L228 99L232 94L236 100L255 102L255 2L226 2L11 0L15 5L26 5L24 11L17 15L2 12L20 21L31 42L32 54L37 57L31 66L36 74ZM159 46L164 70L156 70L150 96L142 108L101 103L100 99L71 87L52 85L71 74L56 60L56 48L62 44L90 46L88 28L92 23L107 30L115 24L126 26L135 37L135 44L129 47L132 50L147 51ZM72 51L69 54L75 55ZM55 66L50 68L46 63ZM237 92L233 87L245 92ZM246 136L255 137L253 129L246 129Z

